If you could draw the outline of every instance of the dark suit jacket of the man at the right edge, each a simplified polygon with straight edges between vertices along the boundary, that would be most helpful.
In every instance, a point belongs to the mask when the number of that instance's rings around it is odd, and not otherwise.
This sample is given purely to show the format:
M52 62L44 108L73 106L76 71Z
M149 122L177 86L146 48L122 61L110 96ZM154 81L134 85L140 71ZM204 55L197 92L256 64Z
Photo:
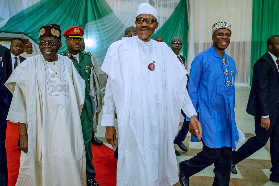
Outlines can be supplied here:
M254 64L252 86L248 99L248 114L276 119L279 113L279 73L275 62L267 52Z

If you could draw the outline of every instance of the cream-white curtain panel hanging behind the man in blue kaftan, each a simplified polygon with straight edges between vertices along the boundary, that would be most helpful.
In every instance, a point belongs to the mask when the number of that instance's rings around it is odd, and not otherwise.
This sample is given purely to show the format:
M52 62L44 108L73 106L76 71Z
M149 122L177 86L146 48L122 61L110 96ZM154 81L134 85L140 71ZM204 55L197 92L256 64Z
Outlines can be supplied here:
M226 53L235 60L235 85L249 86L253 0L189 0L189 4L187 70L190 70L194 57L213 44L213 24L229 22L232 36Z

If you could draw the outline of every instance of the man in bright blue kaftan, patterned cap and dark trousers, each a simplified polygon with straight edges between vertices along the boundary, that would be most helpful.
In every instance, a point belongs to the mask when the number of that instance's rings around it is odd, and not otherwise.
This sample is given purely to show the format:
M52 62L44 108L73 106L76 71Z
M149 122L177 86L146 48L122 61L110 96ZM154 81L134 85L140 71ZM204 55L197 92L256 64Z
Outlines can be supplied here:
M203 150L180 162L179 181L183 186L189 185L190 176L212 163L213 185L226 186L230 182L232 148L238 140L234 113L236 68L234 60L225 53L230 36L229 23L214 24L213 45L199 53L191 65L188 92L202 124Z

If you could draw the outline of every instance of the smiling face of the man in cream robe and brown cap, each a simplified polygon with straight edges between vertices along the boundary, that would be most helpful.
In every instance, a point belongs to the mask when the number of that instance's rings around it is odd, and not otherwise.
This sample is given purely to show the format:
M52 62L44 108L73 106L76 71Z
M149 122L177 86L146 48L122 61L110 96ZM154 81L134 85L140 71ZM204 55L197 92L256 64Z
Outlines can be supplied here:
M40 42L48 42L44 46L39 45L40 51L44 56L44 59L53 62L58 60L58 56L56 55L58 50L62 47L62 43L60 43L57 39L51 37L41 38ZM55 43L53 46L50 46L49 43Z

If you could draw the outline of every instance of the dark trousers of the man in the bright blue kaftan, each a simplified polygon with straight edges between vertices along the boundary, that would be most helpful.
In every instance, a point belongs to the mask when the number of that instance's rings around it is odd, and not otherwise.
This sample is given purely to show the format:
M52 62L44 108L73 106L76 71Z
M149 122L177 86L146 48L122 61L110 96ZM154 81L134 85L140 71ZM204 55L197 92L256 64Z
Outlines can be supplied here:
M190 177L214 163L213 186L228 186L230 183L230 163L232 148L223 146L212 149L203 143L203 150L189 160L181 162L184 175Z

